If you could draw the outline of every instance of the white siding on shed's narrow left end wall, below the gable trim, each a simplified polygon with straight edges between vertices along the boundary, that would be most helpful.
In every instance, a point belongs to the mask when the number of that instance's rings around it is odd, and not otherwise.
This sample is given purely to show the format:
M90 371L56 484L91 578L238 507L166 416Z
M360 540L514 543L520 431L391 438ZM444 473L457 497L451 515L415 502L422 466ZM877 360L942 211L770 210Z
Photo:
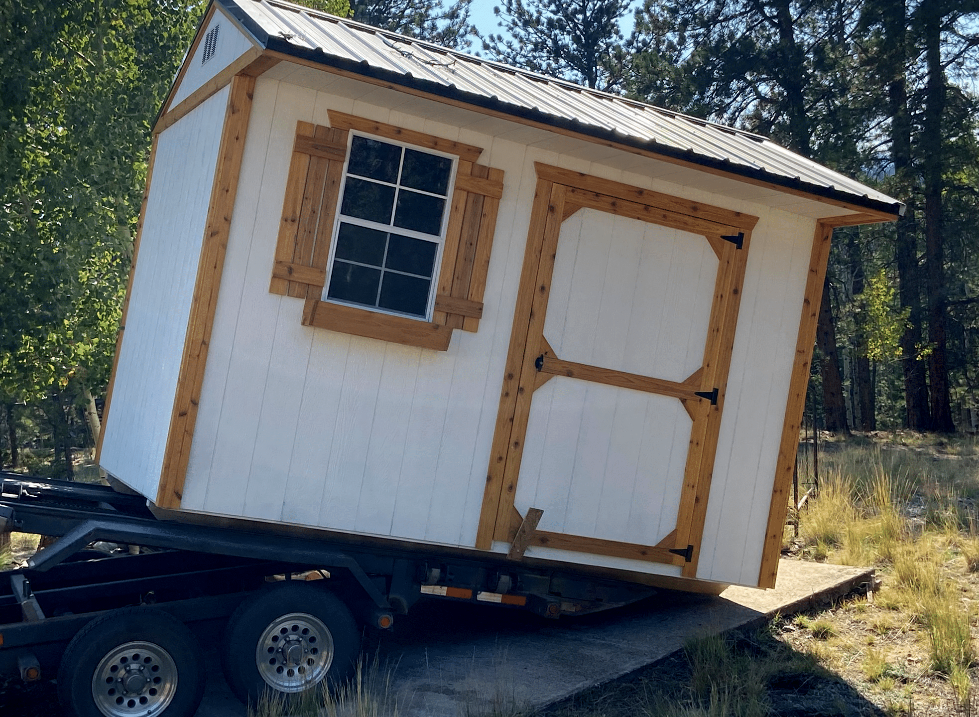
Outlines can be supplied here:
M228 90L157 142L102 467L156 498Z

